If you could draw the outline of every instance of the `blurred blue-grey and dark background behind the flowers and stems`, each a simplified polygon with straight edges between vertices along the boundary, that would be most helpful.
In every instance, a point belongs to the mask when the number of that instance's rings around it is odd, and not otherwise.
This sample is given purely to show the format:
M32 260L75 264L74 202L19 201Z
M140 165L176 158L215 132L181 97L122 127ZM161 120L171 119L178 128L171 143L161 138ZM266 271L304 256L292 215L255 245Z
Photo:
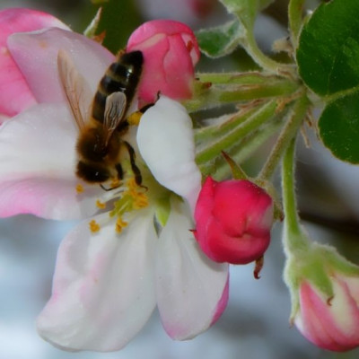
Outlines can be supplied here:
M97 1L98 3L99 1ZM52 13L74 31L82 32L98 5L90 0L0 0L0 9L29 7ZM116 2L114 2L116 3ZM258 18L256 34L269 51L274 39L286 36L287 1L276 1ZM308 1L313 9L317 1ZM128 35L145 20L172 18L194 29L221 23L227 16L215 0L118 0L112 13L118 41L113 51L126 45ZM103 26L103 25L101 25ZM111 25L112 26L112 25ZM235 69L245 54L238 50L225 62L204 59L201 68ZM202 67L201 67L202 66ZM308 133L311 148L299 141L298 194L301 215L315 241L331 243L347 258L359 262L359 169L339 162ZM276 223L266 253L261 278L251 265L231 268L230 301L222 318L205 334L187 342L166 336L158 314L122 351L117 353L67 353L38 337L35 319L48 301L57 247L75 223L44 221L30 215L0 219L0 359L349 359L311 345L296 328L290 328L289 293L282 280L285 262L281 225Z

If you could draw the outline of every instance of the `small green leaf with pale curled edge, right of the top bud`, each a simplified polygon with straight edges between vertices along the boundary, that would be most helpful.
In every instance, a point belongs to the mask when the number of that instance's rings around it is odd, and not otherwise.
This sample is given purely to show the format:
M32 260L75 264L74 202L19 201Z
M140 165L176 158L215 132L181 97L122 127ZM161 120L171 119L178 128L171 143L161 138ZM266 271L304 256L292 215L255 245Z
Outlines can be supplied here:
M196 32L199 47L207 57L223 57L231 54L241 42L244 29L237 19L215 28Z

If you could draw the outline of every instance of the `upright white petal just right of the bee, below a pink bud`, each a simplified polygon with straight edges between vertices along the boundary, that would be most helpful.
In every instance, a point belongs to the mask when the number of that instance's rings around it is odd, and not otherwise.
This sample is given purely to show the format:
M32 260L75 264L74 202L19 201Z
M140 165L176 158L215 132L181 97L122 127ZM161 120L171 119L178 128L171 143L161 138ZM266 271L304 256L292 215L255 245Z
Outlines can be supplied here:
M141 118L137 143L155 179L185 197L193 209L201 173L195 162L192 122L186 109L162 96Z

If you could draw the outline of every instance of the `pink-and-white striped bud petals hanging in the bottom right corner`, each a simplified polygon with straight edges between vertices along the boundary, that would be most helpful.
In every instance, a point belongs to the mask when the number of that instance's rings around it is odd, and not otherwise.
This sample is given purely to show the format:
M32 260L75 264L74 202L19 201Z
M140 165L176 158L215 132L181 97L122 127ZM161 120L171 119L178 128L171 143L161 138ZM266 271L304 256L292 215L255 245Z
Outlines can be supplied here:
M343 352L359 346L359 277L331 279L334 290L331 298L309 282L302 282L300 310L294 323L316 346Z

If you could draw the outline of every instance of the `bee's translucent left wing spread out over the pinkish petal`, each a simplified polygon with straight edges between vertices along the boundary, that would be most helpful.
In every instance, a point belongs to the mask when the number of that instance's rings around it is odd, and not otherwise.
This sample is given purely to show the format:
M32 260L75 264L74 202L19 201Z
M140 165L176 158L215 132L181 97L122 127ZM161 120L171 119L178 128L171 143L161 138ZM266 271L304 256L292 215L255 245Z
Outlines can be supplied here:
M82 130L89 118L92 92L83 75L77 71L74 61L65 50L60 49L58 51L57 66L60 81L73 111L74 119L79 129Z

